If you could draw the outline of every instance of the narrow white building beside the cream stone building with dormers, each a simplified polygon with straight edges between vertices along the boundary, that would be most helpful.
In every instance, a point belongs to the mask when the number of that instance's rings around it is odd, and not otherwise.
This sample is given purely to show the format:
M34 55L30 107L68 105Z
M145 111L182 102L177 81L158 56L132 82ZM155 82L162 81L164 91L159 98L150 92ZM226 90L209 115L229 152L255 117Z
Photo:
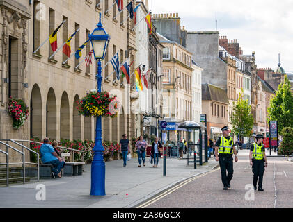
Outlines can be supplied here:
M192 121L200 123L200 114L202 114L201 103L201 73L202 68L196 65L196 62L192 61Z

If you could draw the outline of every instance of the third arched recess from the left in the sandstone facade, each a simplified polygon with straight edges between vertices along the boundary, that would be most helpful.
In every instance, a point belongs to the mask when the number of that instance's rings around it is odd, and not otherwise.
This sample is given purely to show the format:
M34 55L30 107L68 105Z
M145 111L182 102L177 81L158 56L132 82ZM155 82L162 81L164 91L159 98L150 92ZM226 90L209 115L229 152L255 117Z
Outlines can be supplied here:
M70 139L70 108L68 94L63 92L60 106L60 138Z

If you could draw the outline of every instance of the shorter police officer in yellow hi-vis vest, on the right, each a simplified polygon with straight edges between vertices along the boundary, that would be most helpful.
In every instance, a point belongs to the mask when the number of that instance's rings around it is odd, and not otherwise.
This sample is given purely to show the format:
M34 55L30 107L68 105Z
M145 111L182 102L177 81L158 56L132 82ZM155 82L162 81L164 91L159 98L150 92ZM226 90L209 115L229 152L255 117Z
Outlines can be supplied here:
M262 189L262 178L264 177L264 167L267 167L267 156L262 144L264 137L261 134L256 135L256 142L251 144L251 151L249 153L249 160L253 166L253 187L256 190L258 182L258 191Z

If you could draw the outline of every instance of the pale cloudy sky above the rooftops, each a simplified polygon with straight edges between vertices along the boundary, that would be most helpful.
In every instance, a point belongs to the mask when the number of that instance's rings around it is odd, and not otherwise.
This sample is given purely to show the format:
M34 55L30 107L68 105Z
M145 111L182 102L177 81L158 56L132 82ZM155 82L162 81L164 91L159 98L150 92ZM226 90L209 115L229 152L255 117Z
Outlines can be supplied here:
M215 31L255 51L258 68L293 73L293 0L149 0L153 13L179 13L187 31Z

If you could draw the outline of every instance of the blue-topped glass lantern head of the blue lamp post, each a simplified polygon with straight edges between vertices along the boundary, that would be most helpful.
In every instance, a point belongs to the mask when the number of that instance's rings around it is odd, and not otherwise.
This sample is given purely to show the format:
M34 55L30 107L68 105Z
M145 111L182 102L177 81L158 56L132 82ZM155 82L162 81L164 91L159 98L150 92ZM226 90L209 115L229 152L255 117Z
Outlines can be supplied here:
M100 22L97 24L97 28L94 29L93 33L88 35L88 38L92 44L95 60L104 60L106 48L110 41L110 35L108 35L103 28L101 23L101 13Z

